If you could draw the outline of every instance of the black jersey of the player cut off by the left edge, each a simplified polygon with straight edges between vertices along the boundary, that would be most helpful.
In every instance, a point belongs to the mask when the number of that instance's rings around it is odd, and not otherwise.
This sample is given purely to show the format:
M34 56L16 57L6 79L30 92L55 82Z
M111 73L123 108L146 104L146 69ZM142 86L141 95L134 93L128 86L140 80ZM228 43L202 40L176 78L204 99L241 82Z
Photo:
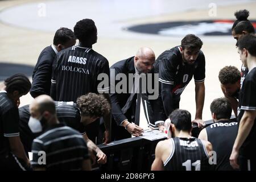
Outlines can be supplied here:
M0 92L0 155L10 152L9 137L19 136L18 107L7 96Z

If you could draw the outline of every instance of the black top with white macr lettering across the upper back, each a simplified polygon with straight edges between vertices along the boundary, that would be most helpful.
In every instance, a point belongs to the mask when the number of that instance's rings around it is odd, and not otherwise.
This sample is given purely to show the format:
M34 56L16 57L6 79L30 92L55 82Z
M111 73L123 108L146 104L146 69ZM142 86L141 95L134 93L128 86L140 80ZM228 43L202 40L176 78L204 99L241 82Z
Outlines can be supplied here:
M206 127L207 139L212 143L213 151L217 154L216 171L232 171L229 157L232 152L234 141L237 137L237 122L229 120L218 121ZM225 146L225 147L224 147Z

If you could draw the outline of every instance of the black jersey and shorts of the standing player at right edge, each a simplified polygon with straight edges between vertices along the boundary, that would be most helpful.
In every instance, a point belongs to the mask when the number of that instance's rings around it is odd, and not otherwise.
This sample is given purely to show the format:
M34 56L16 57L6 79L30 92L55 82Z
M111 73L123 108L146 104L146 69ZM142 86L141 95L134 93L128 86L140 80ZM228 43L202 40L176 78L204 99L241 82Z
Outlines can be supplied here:
M253 68L243 80L238 106L238 123L246 110L256 110L256 68ZM240 155L255 159L256 119L253 127L240 148Z

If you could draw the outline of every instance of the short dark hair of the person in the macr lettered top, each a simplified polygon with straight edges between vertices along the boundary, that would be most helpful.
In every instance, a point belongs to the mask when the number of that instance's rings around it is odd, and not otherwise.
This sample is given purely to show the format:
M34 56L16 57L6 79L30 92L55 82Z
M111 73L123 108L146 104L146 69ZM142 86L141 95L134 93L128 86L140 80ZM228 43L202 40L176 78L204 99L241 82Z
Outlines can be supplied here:
M230 119L232 107L227 98L216 98L210 104L210 111L216 115L216 119Z

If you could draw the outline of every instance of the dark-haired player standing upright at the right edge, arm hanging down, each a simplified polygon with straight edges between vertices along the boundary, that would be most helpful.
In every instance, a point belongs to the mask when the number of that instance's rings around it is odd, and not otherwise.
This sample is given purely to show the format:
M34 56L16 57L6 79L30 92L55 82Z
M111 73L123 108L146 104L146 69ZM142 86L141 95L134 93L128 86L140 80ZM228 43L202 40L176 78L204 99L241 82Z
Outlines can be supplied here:
M238 108L238 134L230 164L242 171L256 170L256 36L247 34L238 39L240 59L249 69L242 84Z

